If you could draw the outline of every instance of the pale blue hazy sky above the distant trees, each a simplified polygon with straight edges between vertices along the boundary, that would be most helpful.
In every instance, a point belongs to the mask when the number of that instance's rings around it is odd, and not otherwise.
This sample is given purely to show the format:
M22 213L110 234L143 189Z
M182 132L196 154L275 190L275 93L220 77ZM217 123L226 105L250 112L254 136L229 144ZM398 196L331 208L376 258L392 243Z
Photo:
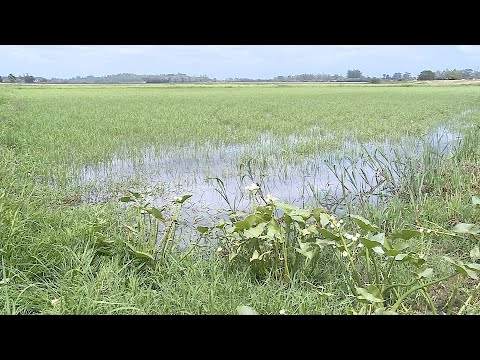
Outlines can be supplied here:
M268 79L349 69L416 76L479 66L480 45L0 45L0 75L47 79L118 73Z

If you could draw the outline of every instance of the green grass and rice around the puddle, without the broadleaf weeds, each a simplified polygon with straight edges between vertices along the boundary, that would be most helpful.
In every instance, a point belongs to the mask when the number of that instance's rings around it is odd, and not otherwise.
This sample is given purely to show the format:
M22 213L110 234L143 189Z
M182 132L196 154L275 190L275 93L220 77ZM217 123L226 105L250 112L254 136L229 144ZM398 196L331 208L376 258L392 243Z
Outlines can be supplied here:
M164 266L140 269L121 250L102 256L89 228L102 222L108 238L124 239L123 208L79 203L70 188L39 183L38 177L49 174L66 185L75 176L72 168L116 154L134 156L152 144L191 147L201 156L207 141L254 146L263 133L285 143L291 134L303 137L293 154L277 154L293 162L341 149L345 140L398 141L452 119L478 124L478 111L456 116L477 110L479 100L476 85L0 87L0 313L235 314L238 305L263 314L346 313L353 301L339 264L329 258L311 284L299 277L286 285L255 280L247 267L230 266L215 253L203 258L193 252L182 262L171 257ZM332 138L320 141L319 133ZM469 201L480 193L480 154L478 135L470 137L457 158L443 159L435 171L425 160L387 206L362 208L362 214L387 231L427 222L448 229L456 222L478 223L480 210ZM472 244L442 236L427 240L415 246L432 259L464 256ZM440 260L434 263L440 274L448 271ZM312 284L333 296L322 296ZM466 284L459 298L472 295L465 312L478 314L474 285ZM439 306L450 288L432 290ZM54 299L61 300L53 305ZM421 301L412 297L411 309L426 312Z

